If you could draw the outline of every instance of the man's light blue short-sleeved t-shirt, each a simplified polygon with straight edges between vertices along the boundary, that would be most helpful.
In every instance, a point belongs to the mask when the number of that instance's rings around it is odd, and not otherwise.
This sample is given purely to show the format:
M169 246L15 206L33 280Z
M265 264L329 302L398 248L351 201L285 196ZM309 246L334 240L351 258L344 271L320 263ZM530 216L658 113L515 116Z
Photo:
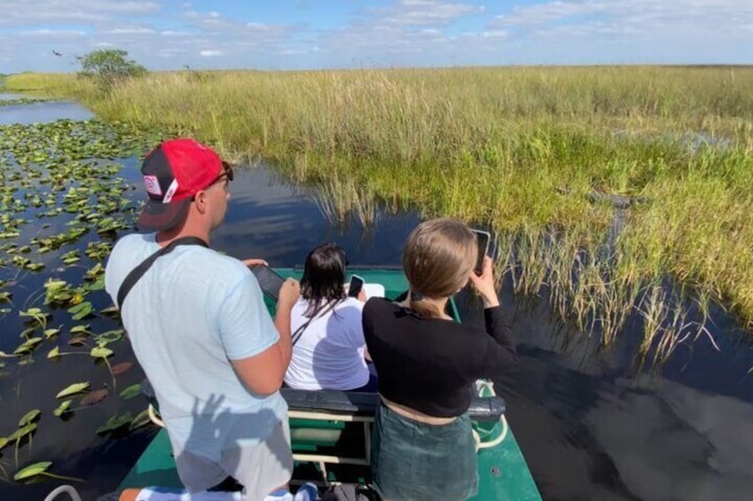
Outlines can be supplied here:
M130 270L159 248L153 233L118 241L105 270L113 301ZM263 441L285 419L282 395L251 393L230 362L279 339L254 274L239 260L176 247L133 286L121 317L176 456L189 450L218 461L223 450Z

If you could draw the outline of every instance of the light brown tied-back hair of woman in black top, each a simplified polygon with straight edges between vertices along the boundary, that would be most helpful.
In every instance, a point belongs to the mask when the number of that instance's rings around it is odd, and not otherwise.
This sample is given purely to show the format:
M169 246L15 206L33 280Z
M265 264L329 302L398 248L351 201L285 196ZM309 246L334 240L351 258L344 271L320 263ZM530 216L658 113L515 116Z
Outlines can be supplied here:
M466 285L477 254L475 235L459 219L441 217L420 223L405 242L403 270L411 285L411 308L441 318L420 296L448 298Z

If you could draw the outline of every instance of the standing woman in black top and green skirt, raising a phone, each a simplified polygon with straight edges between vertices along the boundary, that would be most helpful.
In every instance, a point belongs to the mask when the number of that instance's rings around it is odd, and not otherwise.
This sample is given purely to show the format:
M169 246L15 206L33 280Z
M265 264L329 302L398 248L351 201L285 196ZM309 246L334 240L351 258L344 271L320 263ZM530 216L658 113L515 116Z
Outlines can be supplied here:
M476 454L467 415L471 387L517 355L503 323L490 258L474 272L474 234L459 220L421 223L403 255L407 298L373 298L364 308L366 346L379 373L373 485L389 500L473 497ZM484 303L485 328L444 313L470 280Z

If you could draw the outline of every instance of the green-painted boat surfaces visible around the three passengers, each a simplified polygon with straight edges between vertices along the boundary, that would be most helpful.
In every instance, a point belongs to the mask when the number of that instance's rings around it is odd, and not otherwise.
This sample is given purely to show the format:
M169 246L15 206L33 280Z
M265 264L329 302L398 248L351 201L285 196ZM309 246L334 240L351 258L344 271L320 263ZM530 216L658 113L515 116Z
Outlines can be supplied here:
M300 270L277 269L283 277L300 277ZM366 283L378 283L384 286L387 297L395 297L404 292L407 282L401 270L392 269L358 269L358 275ZM269 299L267 306L273 311L275 305ZM454 303L453 303L454 305ZM493 395L490 387L481 390L482 396ZM294 453L321 453L332 450L346 426L339 420L290 419L292 446ZM479 501L537 501L541 499L536 483L530 475L522 451L515 441L512 429L505 422L475 423L475 430L482 443L491 443L490 447L478 452L479 492L473 499ZM499 441L501 435L504 438ZM497 443L498 442L498 443ZM299 471L296 465L296 472ZM357 473L342 474L337 466L327 471L327 481L363 482L367 481L368 467L355 467ZM339 471L341 476L338 476ZM291 483L295 483L294 481ZM135 466L123 479L120 489L143 488L149 486L181 487L177 476L175 462L170 454L170 442L167 432L162 429L138 458Z

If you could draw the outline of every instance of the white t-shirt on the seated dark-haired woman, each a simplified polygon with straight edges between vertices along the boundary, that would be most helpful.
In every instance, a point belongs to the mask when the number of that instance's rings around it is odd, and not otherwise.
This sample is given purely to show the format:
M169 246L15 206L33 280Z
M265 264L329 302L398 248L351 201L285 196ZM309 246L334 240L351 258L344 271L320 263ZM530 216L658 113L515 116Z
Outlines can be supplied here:
M290 330L294 333L309 321L304 317L309 302L301 298L291 311ZM324 309L328 309L325 306ZM297 389L350 390L369 382L364 353L364 303L346 298L321 317L315 317L293 347L285 382Z

